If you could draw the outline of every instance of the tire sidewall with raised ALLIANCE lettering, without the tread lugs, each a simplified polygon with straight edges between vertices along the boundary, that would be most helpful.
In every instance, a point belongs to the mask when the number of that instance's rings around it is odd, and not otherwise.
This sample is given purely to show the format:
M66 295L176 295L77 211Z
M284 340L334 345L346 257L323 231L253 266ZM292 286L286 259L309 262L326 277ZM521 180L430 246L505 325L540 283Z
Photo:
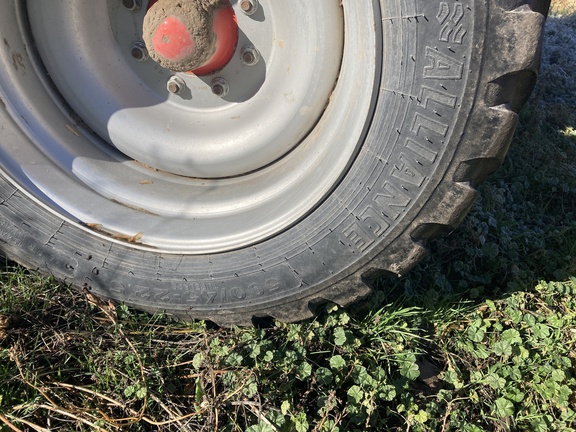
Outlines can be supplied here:
M214 255L159 253L107 240L8 180L0 238L9 256L94 293L178 315L257 314L312 299L401 236L446 179L479 86L484 2L382 1L374 115L348 172L286 231Z

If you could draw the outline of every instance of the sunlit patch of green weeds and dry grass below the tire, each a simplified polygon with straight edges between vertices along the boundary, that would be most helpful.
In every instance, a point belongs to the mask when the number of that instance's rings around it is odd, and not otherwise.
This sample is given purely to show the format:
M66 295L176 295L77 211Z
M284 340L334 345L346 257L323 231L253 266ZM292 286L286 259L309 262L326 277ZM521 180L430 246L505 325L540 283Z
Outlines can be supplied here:
M228 330L37 282L26 309L1 312L0 414L16 428L569 430L576 421L576 279L435 308L399 295L399 284L368 308L329 305L303 324ZM2 298L31 294L21 290L5 280Z

